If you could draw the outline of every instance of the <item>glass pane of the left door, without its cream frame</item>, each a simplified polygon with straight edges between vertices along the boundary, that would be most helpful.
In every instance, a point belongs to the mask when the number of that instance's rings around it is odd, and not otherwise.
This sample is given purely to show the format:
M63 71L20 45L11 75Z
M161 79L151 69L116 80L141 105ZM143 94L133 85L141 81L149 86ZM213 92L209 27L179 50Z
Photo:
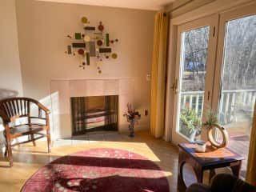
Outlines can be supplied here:
M182 33L178 132L191 141L201 134L210 26Z

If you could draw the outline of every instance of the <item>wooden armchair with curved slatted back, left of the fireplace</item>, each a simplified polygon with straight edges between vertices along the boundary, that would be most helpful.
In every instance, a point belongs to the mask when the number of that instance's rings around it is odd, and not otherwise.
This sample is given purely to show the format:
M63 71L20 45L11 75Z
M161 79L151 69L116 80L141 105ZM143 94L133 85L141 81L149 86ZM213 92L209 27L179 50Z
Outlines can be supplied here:
M17 146L26 142L33 142L35 146L35 140L46 137L48 153L50 153L49 114L50 110L32 98L6 98L0 101L0 117L4 123L6 137L5 156L8 152L10 166L13 166L12 146ZM26 122L15 125L14 121L18 120L18 118L26 118ZM46 130L46 134L42 133L43 130ZM34 134L39 136L35 138ZM27 141L11 144L14 138L25 135L28 135Z

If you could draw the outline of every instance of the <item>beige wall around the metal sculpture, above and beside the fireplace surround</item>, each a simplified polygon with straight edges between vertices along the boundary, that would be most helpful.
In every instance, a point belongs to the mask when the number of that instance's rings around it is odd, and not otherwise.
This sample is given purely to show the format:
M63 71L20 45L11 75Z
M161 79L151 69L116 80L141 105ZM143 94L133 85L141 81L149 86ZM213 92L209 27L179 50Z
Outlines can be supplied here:
M51 80L134 78L134 105L142 114L150 109L150 82L146 81L146 74L150 74L154 11L32 0L17 0L16 9L26 96L50 107ZM92 25L102 21L110 38L119 39L114 47L118 59L104 62L101 75L94 64L81 70L78 57L64 54L70 43L66 35L82 32L82 16L89 18ZM139 127L149 128L149 116L142 115Z

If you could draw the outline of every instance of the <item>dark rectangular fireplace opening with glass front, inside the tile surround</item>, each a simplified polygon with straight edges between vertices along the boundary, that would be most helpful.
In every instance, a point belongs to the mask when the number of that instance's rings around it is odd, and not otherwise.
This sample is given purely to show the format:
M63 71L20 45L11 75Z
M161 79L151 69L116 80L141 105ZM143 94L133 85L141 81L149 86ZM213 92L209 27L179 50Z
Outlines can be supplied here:
M118 95L71 97L72 135L118 130Z

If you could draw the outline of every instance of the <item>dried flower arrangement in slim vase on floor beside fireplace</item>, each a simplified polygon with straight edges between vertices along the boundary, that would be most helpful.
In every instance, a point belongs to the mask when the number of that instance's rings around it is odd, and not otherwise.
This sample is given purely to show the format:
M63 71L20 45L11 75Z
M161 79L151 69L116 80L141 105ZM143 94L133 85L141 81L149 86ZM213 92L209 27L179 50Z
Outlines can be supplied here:
M134 124L135 122L138 122L138 119L141 118L141 114L133 109L131 104L128 102L126 112L123 114L123 116L126 117L127 122L129 122L129 136L134 137Z

